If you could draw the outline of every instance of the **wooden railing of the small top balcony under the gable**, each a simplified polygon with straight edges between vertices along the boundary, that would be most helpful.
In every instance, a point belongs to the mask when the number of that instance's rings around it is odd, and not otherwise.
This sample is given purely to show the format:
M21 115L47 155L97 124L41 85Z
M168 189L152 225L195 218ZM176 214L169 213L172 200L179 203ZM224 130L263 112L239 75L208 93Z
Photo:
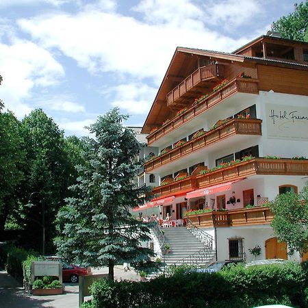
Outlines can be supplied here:
M200 86L199 84L202 81L212 79L213 77L224 78L224 65L211 64L209 66L197 68L194 73L185 78L179 86L175 87L167 94L167 105L174 105L177 101L181 100L181 97L185 96L189 90L195 86Z

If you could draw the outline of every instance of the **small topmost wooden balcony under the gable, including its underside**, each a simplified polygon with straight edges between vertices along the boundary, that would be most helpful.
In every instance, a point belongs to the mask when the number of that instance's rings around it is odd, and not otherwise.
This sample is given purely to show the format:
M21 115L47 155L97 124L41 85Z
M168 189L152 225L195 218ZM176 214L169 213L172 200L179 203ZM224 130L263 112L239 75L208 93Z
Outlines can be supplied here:
M181 105L181 102L185 101L187 97L196 98L200 93L200 88L205 86L209 80L213 81L213 79L217 79L218 81L223 78L224 65L222 64L211 64L198 68L192 75L184 79L179 86L167 94L167 105L169 107L176 104Z

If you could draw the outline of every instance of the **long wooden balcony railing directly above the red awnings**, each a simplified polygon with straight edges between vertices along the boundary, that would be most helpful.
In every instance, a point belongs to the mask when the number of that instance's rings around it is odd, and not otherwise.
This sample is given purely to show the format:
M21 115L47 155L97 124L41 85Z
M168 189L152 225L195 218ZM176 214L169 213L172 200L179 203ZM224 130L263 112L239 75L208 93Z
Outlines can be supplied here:
M308 159L253 158L209 171L203 175L186 177L153 189L153 194L164 196L241 179L251 175L308 175Z

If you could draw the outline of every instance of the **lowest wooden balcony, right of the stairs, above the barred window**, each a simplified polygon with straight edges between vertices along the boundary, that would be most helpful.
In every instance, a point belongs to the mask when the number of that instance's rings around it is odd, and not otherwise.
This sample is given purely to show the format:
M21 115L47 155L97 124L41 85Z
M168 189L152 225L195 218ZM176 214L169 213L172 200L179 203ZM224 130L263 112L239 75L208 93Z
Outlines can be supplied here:
M253 224L270 224L274 214L272 214L269 207L253 207L251 209L211 211L204 214L190 215L188 218L197 227L240 227Z

